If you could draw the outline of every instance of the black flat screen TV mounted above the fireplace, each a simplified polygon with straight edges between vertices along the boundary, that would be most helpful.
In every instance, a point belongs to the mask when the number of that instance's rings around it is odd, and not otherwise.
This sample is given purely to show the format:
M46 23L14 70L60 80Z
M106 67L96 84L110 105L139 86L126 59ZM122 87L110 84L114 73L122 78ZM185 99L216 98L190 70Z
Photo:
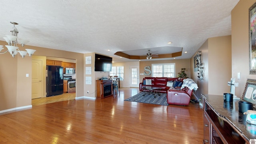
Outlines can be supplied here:
M110 72L112 70L112 58L95 54L95 72Z

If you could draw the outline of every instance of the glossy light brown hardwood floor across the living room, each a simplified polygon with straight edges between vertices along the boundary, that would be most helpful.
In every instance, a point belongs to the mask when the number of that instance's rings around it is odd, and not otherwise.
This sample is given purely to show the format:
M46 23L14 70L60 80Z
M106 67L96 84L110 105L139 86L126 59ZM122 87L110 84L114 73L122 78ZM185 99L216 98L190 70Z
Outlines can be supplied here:
M30 109L0 115L4 144L201 144L203 110L128 102L138 88L120 88L117 96L36 103ZM43 100L43 99L41 99ZM39 101L39 100L37 100ZM46 104L48 103L48 104Z

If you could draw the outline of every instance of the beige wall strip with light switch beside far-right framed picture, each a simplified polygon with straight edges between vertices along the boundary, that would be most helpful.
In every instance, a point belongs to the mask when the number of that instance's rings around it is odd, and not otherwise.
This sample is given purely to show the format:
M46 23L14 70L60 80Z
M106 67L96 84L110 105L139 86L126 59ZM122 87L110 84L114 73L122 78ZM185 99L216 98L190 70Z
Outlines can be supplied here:
M238 87L235 94L242 96L246 80L256 79L249 74L249 8L256 0L240 0L231 12L232 23L232 77L236 78ZM241 72L241 80L237 73Z

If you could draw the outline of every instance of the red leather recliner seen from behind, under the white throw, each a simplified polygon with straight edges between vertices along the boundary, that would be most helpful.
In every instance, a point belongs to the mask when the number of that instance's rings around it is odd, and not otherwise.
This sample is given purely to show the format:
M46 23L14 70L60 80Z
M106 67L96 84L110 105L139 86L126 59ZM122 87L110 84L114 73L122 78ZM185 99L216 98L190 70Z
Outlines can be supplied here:
M192 92L193 90L188 87L182 88L182 90L170 89L167 91L167 102L168 104L188 105Z

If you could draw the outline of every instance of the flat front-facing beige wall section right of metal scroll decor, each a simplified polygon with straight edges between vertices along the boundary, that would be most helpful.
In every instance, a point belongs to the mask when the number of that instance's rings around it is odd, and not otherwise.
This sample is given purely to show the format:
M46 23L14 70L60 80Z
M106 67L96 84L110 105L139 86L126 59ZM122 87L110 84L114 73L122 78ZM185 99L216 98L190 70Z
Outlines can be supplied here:
M208 39L208 94L222 95L230 92L231 36Z

